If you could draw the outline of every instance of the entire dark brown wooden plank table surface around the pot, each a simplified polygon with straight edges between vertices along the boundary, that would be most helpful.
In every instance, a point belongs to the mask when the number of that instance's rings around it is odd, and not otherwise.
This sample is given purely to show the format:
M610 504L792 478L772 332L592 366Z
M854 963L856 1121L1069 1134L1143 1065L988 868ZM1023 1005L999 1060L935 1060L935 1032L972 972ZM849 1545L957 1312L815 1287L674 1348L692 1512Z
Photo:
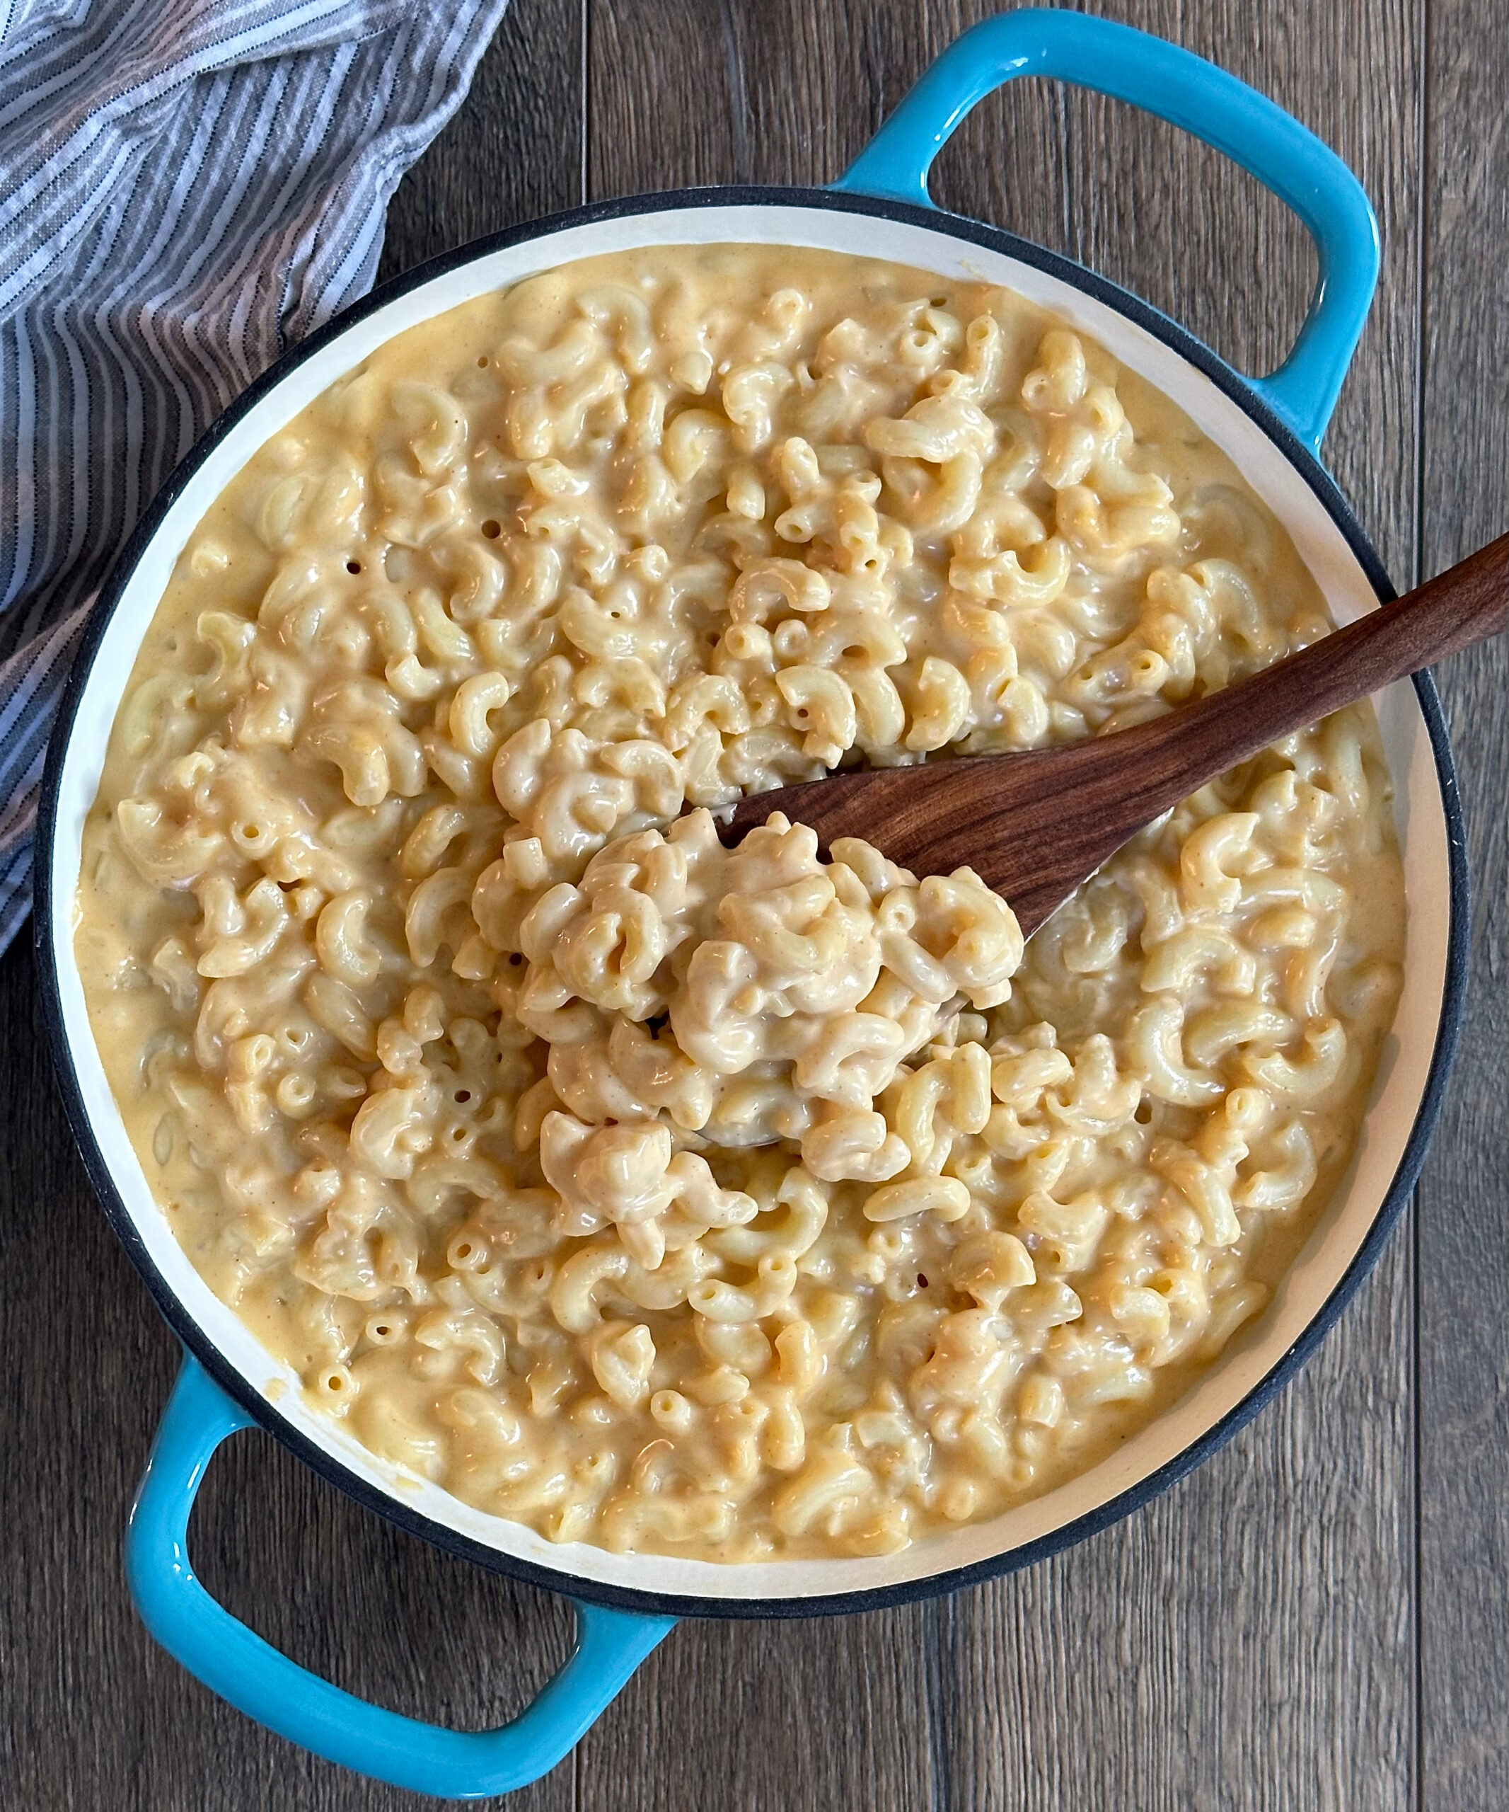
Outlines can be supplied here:
M1504 0L1100 0L1272 94L1360 174L1384 266L1326 458L1400 589L1509 524ZM399 190L384 274L583 198L821 183L978 0L513 0ZM1288 346L1299 225L1114 103L1018 83L946 205L1105 270L1237 366ZM683 1624L574 1758L565 1808L1509 1807L1509 649L1442 674L1476 884L1471 1015L1406 1216L1319 1357L1210 1464L955 1598ZM147 1638L120 1544L176 1350L74 1156L22 942L0 964L0 1803L420 1807L313 1761ZM440 1557L261 1435L194 1526L214 1591L303 1663L458 1727L558 1665L565 1607Z

